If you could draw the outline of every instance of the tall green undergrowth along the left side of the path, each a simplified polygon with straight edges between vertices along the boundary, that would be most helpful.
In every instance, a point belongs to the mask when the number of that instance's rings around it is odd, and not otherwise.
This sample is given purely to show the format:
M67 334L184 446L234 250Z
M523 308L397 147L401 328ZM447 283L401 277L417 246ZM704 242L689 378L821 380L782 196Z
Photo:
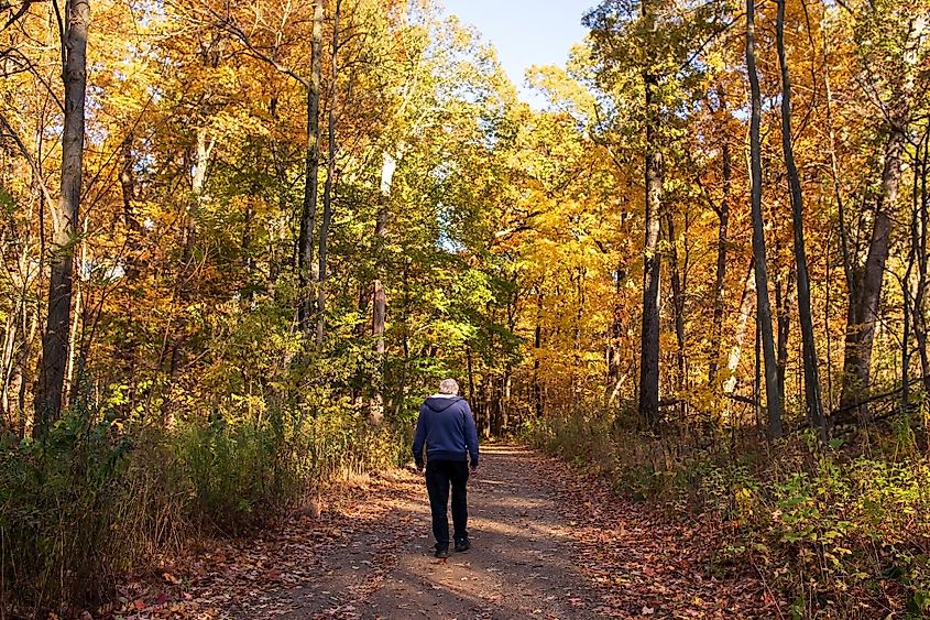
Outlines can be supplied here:
M78 403L39 439L0 435L0 617L75 616L193 536L265 525L340 477L396 466L406 444L338 407L165 429Z

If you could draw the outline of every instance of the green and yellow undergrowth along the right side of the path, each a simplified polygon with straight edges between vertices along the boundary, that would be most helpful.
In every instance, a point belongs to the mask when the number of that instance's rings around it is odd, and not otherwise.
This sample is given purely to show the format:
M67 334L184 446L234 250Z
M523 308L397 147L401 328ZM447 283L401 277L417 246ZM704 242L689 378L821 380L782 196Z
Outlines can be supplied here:
M784 595L785 617L930 614L930 456L913 420L830 447L813 434L685 447L623 420L551 418L528 426L526 438L633 500L727 522L736 536L709 568L754 566Z

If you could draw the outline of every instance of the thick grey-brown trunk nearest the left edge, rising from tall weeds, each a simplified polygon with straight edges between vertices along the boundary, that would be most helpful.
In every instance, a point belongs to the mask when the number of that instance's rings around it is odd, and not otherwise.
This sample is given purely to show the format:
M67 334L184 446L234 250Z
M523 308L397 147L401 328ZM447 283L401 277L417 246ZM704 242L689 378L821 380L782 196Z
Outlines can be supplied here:
M74 233L80 213L84 168L84 106L87 91L87 31L90 0L68 0L65 8L63 83L65 119L62 131L62 196L52 206L52 258L48 311L42 335L42 360L35 394L33 436L41 436L62 412L69 337Z

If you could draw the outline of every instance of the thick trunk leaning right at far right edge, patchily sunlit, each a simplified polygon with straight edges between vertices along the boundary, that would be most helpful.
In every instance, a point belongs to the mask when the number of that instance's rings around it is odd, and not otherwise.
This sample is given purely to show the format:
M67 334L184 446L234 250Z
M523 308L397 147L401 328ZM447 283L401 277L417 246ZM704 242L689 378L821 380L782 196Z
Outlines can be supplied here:
M845 359L843 360L843 393L841 403L852 405L858 402L869 388L872 345L875 324L878 320L878 304L882 298L882 282L885 263L890 248L891 224L898 200L901 178L901 155L907 143L910 116L910 99L913 91L913 69L918 59L918 46L923 34L926 15L918 14L910 24L905 43L905 72L896 85L889 110L888 138L882 167L882 188L875 204L875 221L868 253L865 259L857 295L850 297L849 324L846 326Z

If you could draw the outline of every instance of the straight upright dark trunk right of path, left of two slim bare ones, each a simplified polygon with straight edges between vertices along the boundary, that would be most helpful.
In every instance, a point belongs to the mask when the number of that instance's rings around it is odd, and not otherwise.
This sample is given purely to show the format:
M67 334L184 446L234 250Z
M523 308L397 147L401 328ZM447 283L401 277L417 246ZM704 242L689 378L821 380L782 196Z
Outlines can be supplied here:
M645 14L646 2L643 2ZM661 154L657 145L658 113L653 100L658 87L655 75L645 75L646 85L646 214L643 248L643 328L639 351L639 412L652 429L659 423L659 278L658 251L661 228Z

